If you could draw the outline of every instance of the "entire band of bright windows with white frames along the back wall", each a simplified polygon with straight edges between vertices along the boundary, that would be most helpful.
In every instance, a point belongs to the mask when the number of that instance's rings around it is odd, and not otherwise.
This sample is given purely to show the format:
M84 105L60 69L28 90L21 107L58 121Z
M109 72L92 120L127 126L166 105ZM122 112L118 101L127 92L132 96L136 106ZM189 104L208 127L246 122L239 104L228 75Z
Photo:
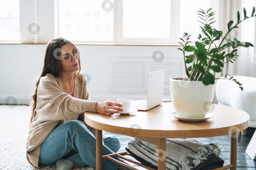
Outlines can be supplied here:
M20 5L19 0L0 3L2 42L47 43L54 37L65 37L76 43L177 44L183 32L195 40L201 32L198 7L207 10L212 3L211 0L20 2ZM36 34L28 30L32 23L40 28Z

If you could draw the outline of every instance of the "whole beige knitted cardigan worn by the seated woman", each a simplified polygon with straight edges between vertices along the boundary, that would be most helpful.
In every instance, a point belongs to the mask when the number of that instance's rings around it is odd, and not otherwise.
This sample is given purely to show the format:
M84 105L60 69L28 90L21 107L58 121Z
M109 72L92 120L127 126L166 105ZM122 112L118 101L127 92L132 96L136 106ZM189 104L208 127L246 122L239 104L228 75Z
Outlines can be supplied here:
M26 146L27 161L32 166L41 167L38 165L40 144L53 129L70 120L80 120L84 123L84 111L96 112L96 103L99 101L90 101L86 80L81 73L76 77L76 82L72 97L64 92L59 77L46 74L40 78L35 114ZM95 135L95 129L85 125Z

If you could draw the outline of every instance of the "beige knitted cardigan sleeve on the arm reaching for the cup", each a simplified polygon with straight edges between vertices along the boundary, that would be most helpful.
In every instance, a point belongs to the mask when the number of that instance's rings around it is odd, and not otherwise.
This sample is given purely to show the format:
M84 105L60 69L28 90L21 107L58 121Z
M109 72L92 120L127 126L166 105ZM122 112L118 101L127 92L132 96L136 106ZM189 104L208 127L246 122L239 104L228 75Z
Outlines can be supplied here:
M89 96L88 90L85 93L85 96ZM79 115L84 111L96 112L96 103L98 102L77 99L63 92L57 80L50 74L40 78L37 97L45 101L41 110L50 111L58 116L64 116L65 119Z

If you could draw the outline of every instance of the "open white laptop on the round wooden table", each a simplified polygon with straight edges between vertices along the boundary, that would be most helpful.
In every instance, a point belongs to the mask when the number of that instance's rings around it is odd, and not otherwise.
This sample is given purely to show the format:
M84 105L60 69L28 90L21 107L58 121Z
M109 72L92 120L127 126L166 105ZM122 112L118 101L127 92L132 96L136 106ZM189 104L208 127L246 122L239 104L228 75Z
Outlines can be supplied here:
M135 100L139 102L136 102L136 105L132 105L131 108L149 110L163 103L164 73L165 70L149 72L147 100Z

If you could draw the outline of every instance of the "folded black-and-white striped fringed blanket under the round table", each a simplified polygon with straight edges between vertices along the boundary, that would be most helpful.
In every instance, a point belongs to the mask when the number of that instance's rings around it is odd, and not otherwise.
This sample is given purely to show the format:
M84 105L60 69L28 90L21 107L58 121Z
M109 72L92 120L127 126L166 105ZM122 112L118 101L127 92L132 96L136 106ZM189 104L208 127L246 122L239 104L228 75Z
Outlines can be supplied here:
M166 158L168 170L213 169L222 167L219 142L206 144L198 139L166 139L166 150L142 140L132 139L125 148L137 161L157 169L157 162ZM160 154L158 158L158 152Z

